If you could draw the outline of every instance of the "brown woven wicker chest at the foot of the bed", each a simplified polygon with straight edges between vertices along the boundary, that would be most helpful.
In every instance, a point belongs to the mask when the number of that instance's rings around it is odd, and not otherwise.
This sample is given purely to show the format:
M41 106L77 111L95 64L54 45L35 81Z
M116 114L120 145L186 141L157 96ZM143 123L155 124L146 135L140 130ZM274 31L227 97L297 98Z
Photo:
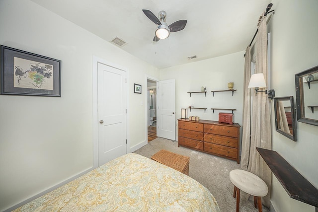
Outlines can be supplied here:
M154 154L151 159L182 172L183 174L189 175L190 157L188 156L161 149L159 152Z

